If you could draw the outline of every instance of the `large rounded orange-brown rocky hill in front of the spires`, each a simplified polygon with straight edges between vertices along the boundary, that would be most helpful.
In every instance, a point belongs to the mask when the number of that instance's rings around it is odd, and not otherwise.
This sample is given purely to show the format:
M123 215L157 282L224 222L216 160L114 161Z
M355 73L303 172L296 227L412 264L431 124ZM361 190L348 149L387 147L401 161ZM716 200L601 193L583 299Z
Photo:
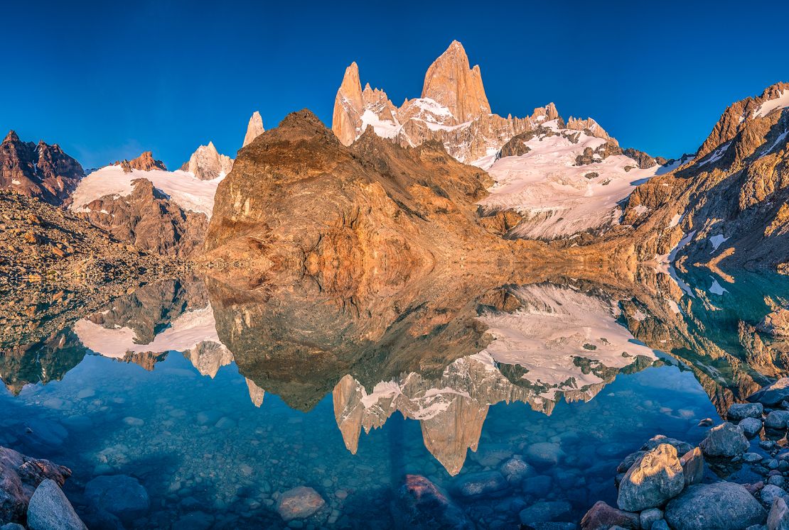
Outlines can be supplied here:
M350 292L439 262L544 251L481 225L474 202L489 183L435 143L404 149L368 132L349 148L301 111L241 150L219 183L207 258L298 271Z

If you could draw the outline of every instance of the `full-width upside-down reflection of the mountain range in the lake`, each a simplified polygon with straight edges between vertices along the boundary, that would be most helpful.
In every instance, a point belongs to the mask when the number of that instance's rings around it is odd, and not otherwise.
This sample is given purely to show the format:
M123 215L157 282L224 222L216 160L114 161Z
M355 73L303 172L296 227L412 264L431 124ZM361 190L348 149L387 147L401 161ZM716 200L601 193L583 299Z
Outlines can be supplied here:
M0 376L18 393L62 378L86 353L154 369L180 352L211 377L235 362L256 406L266 391L300 410L331 394L354 453L361 431L395 412L420 421L425 447L454 474L490 406L525 402L550 414L561 399L588 401L620 373L660 362L652 348L691 369L719 410L787 366L786 339L757 329L787 305L783 278L716 280L726 291L709 273L683 273L681 287L654 269L539 280L434 278L363 298L309 282L235 291L169 280L3 352Z

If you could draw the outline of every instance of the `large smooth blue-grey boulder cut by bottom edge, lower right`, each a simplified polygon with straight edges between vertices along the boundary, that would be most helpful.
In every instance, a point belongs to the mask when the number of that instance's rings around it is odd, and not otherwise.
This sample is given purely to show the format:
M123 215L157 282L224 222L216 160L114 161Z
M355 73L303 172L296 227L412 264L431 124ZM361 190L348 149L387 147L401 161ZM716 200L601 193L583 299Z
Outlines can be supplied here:
M716 482L687 487L668 502L665 515L675 530L742 530L764 522L767 513L745 487Z

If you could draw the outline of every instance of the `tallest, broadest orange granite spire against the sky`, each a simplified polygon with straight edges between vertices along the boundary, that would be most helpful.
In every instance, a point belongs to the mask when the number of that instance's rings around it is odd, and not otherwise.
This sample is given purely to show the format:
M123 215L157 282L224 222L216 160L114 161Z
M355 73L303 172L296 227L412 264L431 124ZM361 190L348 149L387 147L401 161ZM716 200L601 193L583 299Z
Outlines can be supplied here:
M422 98L434 99L447 107L458 123L491 113L480 67L469 68L466 50L456 40L430 65L424 76Z

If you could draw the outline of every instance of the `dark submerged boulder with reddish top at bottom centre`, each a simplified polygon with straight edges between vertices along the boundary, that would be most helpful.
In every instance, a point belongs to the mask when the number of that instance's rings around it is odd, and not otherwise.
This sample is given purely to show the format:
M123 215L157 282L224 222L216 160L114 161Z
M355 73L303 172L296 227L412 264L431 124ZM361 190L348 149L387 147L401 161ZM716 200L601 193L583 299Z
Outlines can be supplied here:
M392 502L391 513L398 528L474 528L466 513L421 475L406 475L405 484Z

